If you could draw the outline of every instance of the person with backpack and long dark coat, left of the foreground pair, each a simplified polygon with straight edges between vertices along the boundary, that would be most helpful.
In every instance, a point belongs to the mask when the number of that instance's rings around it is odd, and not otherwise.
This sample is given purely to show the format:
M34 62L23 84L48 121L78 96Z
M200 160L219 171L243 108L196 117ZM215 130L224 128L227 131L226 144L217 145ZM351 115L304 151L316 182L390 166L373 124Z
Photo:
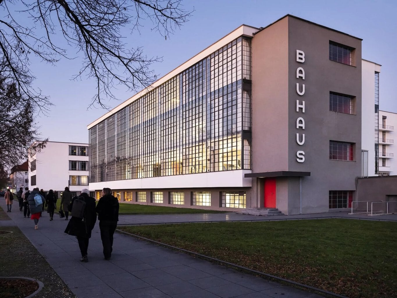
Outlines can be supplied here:
M95 199L89 194L89 190L83 189L79 197L73 197L69 205L71 219L65 229L66 234L76 236L82 262L88 262L89 239L96 223Z

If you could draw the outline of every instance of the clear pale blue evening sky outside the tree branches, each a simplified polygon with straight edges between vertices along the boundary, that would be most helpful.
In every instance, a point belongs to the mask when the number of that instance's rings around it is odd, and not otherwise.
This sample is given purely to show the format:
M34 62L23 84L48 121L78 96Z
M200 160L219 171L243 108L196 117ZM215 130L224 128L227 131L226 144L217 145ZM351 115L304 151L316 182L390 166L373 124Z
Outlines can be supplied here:
M380 109L397 112L397 1L185 0L183 4L187 10L194 7L193 16L167 40L150 31L150 24L140 35L126 31L126 41L131 46L143 46L147 56L163 57L163 62L152 66L158 77L241 24L265 27L292 14L363 39L362 58L382 65ZM87 110L96 89L87 78L71 81L80 66L78 59L62 60L56 66L33 60L32 70L37 77L34 85L55 104L49 116L36 118L42 138L88 143L87 124L107 112L100 108ZM114 94L119 100L106 102L111 107L134 95L123 89L114 90Z

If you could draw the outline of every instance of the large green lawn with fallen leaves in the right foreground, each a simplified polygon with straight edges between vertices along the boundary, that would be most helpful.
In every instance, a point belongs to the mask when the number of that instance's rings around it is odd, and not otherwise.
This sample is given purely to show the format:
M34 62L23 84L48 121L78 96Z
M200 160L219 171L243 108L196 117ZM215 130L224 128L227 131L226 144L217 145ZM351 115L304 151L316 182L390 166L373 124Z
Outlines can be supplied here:
M320 219L119 228L351 298L397 297L397 223Z

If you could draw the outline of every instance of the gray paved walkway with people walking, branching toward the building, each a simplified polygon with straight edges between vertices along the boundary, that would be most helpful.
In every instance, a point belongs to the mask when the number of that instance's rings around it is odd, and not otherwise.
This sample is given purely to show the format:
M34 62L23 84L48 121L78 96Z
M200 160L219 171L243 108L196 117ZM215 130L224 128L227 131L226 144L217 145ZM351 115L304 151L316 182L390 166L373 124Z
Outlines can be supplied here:
M0 206L6 209L4 199L0 199ZM39 230L34 230L33 220L24 218L16 206L14 204L12 212L7 213L12 220L0 221L0 226L18 226L79 298L322 297L118 233L114 237L112 259L106 261L102 255L98 224L90 239L89 262L81 263L75 237L63 232L67 224L64 219L56 215L54 221L49 221L48 213L44 213ZM311 218L315 217L311 215ZM269 217L236 213L121 215L119 223L258 219ZM397 216L394 219L397 220Z

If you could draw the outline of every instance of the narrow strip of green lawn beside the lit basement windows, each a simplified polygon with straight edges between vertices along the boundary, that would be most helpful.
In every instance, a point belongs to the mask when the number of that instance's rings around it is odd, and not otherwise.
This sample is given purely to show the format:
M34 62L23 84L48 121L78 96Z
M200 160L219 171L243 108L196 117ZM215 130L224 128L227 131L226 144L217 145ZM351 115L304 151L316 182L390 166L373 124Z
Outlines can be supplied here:
M98 202L98 201L97 201ZM170 214L170 213L209 213L222 211L204 210L204 209L191 209L191 208L177 208L155 205L140 205L130 203L119 203L119 214Z

